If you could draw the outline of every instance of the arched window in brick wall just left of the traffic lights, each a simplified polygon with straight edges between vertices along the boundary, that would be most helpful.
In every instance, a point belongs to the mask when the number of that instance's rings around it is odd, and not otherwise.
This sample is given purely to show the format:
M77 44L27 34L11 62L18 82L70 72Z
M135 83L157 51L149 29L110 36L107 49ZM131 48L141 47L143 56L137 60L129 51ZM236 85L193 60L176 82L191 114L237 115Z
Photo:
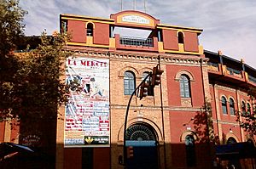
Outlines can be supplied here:
M124 93L131 95L135 90L135 75L132 71L125 71L124 77Z

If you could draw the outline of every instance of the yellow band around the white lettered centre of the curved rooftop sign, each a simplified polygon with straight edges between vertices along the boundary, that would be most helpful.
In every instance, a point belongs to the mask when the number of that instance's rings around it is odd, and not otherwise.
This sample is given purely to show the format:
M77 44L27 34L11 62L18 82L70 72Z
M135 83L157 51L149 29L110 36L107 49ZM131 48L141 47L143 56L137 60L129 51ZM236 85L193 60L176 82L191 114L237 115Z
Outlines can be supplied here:
M140 16L140 17L143 17L147 20L149 20L149 24L140 24L140 23L136 23L136 22L125 22L122 20L122 18L124 16L129 16L129 15L135 15L135 16ZM135 14L135 13L125 13L125 14L120 14L117 16L117 20L116 20L116 23L117 24L131 24L131 25L145 25L145 26L153 26L155 25L154 23L154 20L152 20L151 18L149 18L148 16L146 15L143 15L143 14Z

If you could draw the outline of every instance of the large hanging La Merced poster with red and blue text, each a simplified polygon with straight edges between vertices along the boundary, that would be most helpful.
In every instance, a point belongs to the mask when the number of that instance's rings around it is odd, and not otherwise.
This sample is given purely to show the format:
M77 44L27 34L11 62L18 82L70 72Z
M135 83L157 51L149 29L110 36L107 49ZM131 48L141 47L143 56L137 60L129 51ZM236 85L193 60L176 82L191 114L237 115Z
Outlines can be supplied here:
M109 61L68 58L64 145L109 145Z

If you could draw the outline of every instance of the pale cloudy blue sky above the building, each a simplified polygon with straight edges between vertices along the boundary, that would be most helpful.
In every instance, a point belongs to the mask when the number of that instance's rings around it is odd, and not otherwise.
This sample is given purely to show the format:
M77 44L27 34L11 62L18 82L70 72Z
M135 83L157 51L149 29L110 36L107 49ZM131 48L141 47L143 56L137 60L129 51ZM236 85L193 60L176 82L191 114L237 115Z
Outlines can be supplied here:
M134 6L136 2L136 7ZM123 0L123 10L145 12L144 0ZM146 13L162 24L201 28L200 43L207 50L240 60L256 69L255 0L146 0ZM121 0L20 0L28 11L26 35L59 30L60 14L109 18L121 10Z

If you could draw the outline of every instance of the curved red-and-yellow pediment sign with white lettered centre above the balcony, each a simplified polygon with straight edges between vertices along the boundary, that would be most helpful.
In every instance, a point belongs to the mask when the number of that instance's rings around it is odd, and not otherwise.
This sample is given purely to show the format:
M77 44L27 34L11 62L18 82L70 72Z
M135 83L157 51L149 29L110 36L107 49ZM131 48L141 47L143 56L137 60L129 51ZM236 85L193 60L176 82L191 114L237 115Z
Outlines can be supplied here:
M154 19L153 16L135 10L125 10L117 14L111 14L111 19L115 25L140 27L154 29L160 20Z

